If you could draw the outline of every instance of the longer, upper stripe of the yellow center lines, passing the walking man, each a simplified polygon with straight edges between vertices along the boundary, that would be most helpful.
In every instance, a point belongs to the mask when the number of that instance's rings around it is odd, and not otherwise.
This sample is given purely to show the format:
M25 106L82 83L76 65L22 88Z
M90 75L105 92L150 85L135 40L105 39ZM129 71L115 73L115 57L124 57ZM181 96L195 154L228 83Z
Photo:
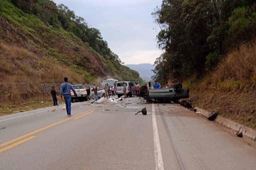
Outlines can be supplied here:
M90 109L90 110L88 110L88 111L86 111L86 112L80 113L80 114L74 116L73 118L79 117L79 116L81 116L81 115L83 115L83 114L86 114L86 113L90 112L91 110L93 110L93 109ZM18 140L21 140L21 139L23 139L23 138L26 138L26 137L28 137L28 136L30 136L30 135L34 135L35 133L41 132L41 131L43 131L43 130L45 130L45 129L48 129L48 128L50 128L50 127L56 126L56 125L58 125L58 124L60 124L60 123L66 122L67 120L70 120L70 118L61 120L61 121L59 121L59 122L53 123L53 124L51 124L51 125L45 126L45 127L43 127L43 128L37 129L37 130L35 130L35 131L33 131L33 132L30 132L30 133L28 133L28 134L25 134L25 135L23 135L23 136L20 136L20 137L18 137L18 138L12 139L12 140L10 140L10 141L8 141L8 142L2 143L2 144L0 144L0 148L3 147L3 146L9 145L9 144L11 144L11 143L13 143L13 142L16 142L16 141L18 141Z

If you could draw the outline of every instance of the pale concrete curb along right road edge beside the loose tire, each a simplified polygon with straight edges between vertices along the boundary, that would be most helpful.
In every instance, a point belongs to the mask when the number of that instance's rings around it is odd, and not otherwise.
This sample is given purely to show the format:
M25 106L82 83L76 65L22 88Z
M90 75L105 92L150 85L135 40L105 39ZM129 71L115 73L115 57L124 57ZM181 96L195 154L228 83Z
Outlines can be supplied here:
M200 114L205 117L208 117L210 115L210 112L203 110L199 107L195 107L195 109L197 110L197 112L200 111ZM229 120L227 118L224 118L220 115L217 116L217 118L215 119L215 122L217 122L223 126L226 126L227 128L230 128L236 132L242 132L244 136L247 136L248 138L250 138L256 142L256 131L251 128L240 125L240 124L238 124L232 120Z

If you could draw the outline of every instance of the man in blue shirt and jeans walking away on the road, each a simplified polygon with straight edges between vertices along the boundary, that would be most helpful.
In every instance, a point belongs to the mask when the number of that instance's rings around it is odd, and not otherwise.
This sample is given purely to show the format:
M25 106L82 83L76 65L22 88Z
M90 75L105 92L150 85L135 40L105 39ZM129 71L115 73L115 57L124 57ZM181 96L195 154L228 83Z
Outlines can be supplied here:
M70 94L70 90L73 91L74 95L77 96L76 94L76 90L74 89L74 87L68 83L68 78L65 77L64 78L65 83L62 83L60 86L60 97L63 100L64 96L64 100L66 103L66 110L67 110L67 114L68 117L71 117L71 94Z

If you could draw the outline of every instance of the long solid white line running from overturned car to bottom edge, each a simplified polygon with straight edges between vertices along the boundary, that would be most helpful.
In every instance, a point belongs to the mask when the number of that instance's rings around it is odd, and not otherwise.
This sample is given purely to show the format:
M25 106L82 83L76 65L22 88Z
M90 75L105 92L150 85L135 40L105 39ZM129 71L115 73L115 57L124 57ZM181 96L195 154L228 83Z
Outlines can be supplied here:
M155 154L155 169L164 170L164 163L161 152L160 139L156 123L155 106L152 104L152 124L153 124L153 139L154 139L154 154Z

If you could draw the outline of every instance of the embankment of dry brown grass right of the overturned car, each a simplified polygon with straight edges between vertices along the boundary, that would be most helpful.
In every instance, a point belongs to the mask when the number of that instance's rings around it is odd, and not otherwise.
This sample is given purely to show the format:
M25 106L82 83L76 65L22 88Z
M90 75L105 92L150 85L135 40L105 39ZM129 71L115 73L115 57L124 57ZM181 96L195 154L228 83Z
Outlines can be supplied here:
M183 85L194 105L256 129L256 42L228 54L203 80Z

